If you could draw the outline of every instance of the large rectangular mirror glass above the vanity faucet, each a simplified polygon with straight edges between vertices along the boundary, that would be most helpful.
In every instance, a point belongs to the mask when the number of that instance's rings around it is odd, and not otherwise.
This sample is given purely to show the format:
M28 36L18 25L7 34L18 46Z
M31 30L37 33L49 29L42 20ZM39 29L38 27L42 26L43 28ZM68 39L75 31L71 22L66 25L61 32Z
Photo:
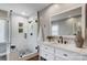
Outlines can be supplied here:
M81 31L81 8L55 14L51 18L52 35L76 35Z

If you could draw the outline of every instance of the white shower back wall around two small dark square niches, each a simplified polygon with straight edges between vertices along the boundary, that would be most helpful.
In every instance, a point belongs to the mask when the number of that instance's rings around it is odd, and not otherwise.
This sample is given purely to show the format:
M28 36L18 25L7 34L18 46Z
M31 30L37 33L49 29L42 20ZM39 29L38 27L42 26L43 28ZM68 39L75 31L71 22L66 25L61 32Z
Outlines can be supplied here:
M23 33L19 33L19 22L23 23ZM12 14L12 44L15 45L18 51L28 48L26 39L24 33L28 33L28 19L21 15Z

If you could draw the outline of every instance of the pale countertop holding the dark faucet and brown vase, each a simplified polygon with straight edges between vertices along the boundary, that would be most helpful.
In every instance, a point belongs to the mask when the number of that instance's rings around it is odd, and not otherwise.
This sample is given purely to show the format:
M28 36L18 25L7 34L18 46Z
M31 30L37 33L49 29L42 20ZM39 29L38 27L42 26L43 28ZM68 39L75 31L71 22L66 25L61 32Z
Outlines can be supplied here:
M64 50L67 50L67 51L72 51L72 52L76 52L76 53L79 53L79 54L83 54L83 55L87 55L87 47L76 47L75 44L59 44L59 43L54 43L54 42L44 42L43 44L46 44L46 45L50 45L50 46L53 46L53 47L57 47L57 48L64 48Z

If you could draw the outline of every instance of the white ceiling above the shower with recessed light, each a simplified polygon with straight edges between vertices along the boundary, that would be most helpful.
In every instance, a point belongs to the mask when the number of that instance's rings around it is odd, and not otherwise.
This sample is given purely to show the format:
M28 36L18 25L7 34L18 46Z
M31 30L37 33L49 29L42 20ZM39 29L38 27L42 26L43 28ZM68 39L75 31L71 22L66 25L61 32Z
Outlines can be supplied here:
M30 17L39 10L42 10L50 3L0 3L0 9Z

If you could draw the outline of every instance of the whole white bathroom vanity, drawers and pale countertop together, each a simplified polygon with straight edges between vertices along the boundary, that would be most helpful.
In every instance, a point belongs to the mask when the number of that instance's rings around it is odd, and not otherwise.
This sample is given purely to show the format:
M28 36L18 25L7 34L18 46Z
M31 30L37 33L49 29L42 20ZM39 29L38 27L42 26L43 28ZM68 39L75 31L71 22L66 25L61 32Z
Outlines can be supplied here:
M87 61L87 47L78 48L75 44L43 42L40 56L47 61Z

